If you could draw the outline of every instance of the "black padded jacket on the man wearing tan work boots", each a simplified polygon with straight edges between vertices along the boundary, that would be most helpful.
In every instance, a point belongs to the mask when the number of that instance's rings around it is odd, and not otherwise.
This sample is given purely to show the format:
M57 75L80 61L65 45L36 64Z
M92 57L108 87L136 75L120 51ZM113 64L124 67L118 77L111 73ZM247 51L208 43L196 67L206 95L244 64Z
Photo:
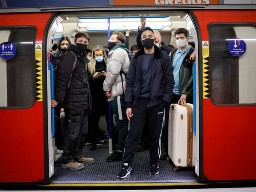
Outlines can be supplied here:
M70 88L68 81L72 72L76 54L76 66L74 68ZM90 109L90 89L86 73L86 64L76 45L70 44L63 54L58 70L54 78L54 99L68 109Z

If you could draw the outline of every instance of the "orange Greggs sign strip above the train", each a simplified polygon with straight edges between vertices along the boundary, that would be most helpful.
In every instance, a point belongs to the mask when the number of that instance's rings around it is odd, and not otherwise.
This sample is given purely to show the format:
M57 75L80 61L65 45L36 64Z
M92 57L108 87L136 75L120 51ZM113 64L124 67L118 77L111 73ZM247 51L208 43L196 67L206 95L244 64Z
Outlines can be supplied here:
M114 0L114 5L191 5L218 3L219 0Z

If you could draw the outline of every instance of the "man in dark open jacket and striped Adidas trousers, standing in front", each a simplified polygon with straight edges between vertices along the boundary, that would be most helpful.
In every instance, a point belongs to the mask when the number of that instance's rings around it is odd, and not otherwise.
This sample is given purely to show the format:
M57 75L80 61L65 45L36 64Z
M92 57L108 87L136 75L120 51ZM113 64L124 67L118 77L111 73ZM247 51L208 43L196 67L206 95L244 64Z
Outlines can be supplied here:
M126 78L125 102L129 132L118 178L126 178L132 171L131 163L146 120L150 132L150 174L159 173L164 108L170 103L174 87L169 56L154 45L153 30L146 27L141 39L144 48L132 58Z

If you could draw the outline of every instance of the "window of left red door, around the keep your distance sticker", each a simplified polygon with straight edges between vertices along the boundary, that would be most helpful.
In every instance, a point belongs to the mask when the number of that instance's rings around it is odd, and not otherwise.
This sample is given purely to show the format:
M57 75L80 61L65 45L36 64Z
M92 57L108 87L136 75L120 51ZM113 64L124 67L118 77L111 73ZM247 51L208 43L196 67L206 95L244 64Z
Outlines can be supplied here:
M13 58L0 58L0 107L28 108L36 99L36 28L0 28L0 39L16 46Z

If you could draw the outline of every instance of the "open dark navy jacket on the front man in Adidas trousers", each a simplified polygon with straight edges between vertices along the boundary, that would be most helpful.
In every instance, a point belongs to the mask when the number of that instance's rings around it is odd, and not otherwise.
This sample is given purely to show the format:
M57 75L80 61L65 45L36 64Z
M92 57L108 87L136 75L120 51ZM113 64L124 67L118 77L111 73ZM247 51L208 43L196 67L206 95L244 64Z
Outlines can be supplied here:
M126 107L136 106L140 94L140 76L143 64L144 48L140 49L132 58L126 77L125 102ZM163 67L161 58L163 58ZM169 56L160 48L154 45L154 58L151 67L150 79L150 102L147 107L155 106L160 103L168 105L171 100L172 90L174 88L174 77ZM164 74L164 79L163 79ZM165 83L163 84L163 80Z

